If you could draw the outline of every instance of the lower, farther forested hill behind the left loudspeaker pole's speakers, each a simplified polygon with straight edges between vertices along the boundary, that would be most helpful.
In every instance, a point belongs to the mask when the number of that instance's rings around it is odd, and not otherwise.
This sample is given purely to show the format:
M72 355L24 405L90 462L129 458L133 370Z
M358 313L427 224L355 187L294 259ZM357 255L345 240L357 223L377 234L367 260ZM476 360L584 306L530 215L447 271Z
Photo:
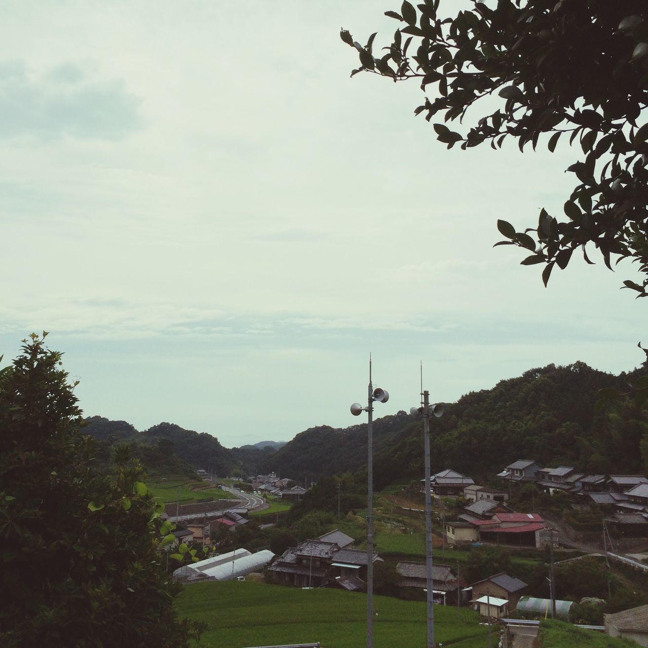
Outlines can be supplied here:
M415 425L404 411L374 421L374 450ZM296 435L259 464L261 472L274 470L294 480L317 478L366 466L366 423L350 428L322 425Z

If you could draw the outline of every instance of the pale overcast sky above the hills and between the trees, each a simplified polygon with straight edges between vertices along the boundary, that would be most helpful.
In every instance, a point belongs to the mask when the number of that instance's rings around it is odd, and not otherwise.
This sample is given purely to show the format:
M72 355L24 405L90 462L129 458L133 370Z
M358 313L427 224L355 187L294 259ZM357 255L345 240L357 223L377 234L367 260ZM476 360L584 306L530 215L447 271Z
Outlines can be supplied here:
M86 415L233 447L359 422L370 353L375 416L418 404L421 362L444 402L640 365L629 265L544 288L492 247L498 218L562 213L579 150L448 151L415 82L350 78L341 27L389 44L394 8L6 0L0 366L47 330Z

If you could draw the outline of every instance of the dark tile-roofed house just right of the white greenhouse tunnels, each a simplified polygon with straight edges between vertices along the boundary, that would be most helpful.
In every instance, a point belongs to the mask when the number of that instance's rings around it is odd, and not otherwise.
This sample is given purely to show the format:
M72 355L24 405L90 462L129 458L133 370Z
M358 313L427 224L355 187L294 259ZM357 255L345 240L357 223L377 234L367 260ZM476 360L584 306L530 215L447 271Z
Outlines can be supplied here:
M341 536L349 538L345 534ZM353 542L353 538L351 540ZM373 562L376 561L382 559L374 552ZM339 585L339 579L351 576L365 583L366 565L365 550L349 549L348 544L342 548L335 542L317 539L305 540L297 547L288 548L268 571L274 573L278 583L298 587L322 587ZM351 582L357 584L357 581Z

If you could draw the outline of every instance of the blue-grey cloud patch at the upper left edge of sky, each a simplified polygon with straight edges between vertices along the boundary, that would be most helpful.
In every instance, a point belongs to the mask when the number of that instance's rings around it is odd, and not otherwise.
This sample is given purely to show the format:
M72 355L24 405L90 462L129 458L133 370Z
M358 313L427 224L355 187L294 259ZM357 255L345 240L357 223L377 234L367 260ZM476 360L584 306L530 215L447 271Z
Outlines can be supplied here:
M95 80L66 64L42 73L0 62L0 137L117 140L142 126L139 99L121 80Z

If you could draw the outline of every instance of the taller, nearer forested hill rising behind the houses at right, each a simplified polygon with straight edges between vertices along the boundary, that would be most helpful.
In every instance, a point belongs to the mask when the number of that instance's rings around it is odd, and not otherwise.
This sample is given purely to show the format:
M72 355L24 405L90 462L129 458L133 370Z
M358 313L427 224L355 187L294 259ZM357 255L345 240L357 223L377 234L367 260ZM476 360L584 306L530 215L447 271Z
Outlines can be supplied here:
M492 389L468 393L446 406L431 425L431 467L451 467L492 478L516 459L547 467L575 466L590 473L648 470L648 415L631 401L594 411L605 387L627 391L627 375L614 376L582 362L531 369ZM396 439L376 456L380 483L421 472L423 432ZM643 441L643 443L642 443Z

